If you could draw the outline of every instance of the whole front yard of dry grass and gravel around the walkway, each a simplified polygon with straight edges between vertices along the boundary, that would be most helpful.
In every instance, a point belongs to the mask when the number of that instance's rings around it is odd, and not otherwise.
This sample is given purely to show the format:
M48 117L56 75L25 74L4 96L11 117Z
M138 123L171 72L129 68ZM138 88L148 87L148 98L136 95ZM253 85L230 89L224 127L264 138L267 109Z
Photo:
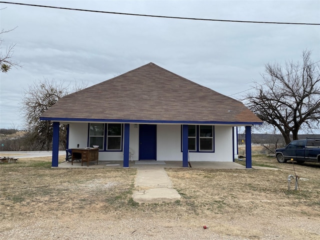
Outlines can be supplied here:
M135 168L50 163L0 165L0 239L320 239L320 164L257 155L253 166L279 169L165 169L181 199L138 204Z

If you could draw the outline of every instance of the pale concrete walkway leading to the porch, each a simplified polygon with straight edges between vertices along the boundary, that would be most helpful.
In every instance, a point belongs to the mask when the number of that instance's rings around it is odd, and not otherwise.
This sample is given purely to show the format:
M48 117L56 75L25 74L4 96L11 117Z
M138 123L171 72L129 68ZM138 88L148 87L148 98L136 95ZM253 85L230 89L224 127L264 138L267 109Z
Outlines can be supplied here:
M134 185L133 200L139 203L175 201L181 197L164 168L137 168Z

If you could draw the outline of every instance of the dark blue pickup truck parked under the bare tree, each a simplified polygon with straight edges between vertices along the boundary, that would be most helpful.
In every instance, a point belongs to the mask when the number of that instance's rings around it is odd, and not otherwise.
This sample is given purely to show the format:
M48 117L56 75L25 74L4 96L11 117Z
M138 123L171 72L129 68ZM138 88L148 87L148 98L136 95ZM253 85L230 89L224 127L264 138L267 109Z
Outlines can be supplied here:
M297 162L320 162L320 138L293 140L286 147L275 149L275 156L280 163L290 159Z

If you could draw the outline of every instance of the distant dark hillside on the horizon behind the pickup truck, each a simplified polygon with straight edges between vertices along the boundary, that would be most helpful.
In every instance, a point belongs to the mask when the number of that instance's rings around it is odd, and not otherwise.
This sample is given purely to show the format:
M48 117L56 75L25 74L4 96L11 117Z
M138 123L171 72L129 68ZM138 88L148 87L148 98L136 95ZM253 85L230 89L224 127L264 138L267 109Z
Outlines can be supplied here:
M320 138L320 134L299 134L299 139L308 138ZM238 143L245 142L245 134L238 134ZM285 144L284 138L281 134L263 134L263 133L252 133L252 143L283 143Z

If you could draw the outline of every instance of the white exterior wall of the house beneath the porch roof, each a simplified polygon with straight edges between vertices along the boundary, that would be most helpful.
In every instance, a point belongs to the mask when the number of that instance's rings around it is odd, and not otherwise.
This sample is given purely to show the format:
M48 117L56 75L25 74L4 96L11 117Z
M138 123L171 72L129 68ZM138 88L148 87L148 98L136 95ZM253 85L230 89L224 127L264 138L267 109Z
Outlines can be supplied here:
M129 151L139 159L139 124L130 124ZM158 124L156 159L182 161L181 125ZM124 138L124 137L123 137ZM69 148L87 146L88 123L69 124ZM214 126L214 152L190 152L190 161L232 161L232 126ZM99 151L99 160L123 160L123 151Z

